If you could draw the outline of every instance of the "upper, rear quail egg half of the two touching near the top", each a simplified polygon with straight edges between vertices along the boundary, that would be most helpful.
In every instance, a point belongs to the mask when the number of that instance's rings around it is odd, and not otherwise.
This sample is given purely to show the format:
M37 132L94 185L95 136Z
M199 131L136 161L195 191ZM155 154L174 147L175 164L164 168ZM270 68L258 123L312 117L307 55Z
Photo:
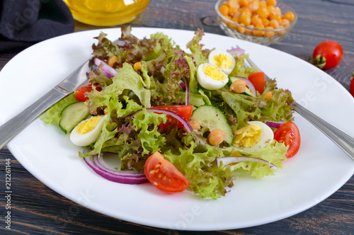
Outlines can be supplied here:
M236 64L235 58L229 52L222 50L212 50L208 59L210 64L214 64L227 75L231 74Z

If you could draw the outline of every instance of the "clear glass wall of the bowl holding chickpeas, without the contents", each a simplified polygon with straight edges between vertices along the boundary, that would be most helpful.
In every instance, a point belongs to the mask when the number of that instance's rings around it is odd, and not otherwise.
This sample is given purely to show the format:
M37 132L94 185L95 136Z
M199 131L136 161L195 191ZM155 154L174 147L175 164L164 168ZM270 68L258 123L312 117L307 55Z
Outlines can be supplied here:
M239 38L241 40L246 40L250 42L256 42L261 45L270 45L274 42L280 42L283 40L289 33L290 30L294 27L297 23L297 14L295 13L294 9L284 3L278 3L277 6L280 8L282 13L287 13L291 11L294 13L295 18L293 21L290 21L290 25L285 28L277 28L277 29L256 29L250 28L244 25L240 25L239 23L235 23L234 21L229 20L225 16L220 13L219 8L222 6L222 3L227 0L219 0L215 4L215 11L217 12L217 18L219 21L220 28L224 31L224 33L233 38ZM241 33L243 32L244 33ZM265 32L274 32L274 36L271 38L265 36L255 36L256 35L264 35Z

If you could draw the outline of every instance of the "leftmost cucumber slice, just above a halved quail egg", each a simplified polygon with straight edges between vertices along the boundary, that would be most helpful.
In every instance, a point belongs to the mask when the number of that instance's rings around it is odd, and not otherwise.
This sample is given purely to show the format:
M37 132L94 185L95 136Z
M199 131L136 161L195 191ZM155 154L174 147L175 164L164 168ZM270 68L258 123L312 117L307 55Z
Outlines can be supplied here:
M67 134L72 132L74 127L89 115L89 108L87 108L87 105L84 102L76 102L67 105L60 115L62 118L59 121L59 127L65 134Z

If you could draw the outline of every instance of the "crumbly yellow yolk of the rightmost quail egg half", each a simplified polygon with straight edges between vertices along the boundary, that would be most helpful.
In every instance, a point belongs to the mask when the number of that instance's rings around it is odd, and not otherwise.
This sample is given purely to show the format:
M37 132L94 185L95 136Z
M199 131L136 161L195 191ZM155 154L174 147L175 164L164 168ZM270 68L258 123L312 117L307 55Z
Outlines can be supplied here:
M255 124L246 125L236 130L234 144L239 147L250 148L256 145L262 137L261 127Z

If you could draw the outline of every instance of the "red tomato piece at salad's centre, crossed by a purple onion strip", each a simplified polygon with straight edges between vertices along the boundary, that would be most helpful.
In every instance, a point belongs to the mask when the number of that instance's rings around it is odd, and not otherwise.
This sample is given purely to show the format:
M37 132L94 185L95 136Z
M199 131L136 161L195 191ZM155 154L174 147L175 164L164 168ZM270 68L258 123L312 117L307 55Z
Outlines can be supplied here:
M192 113L193 113L193 105L166 105L166 106L154 106L152 108L171 110L171 111L181 115L182 117L184 117L188 121L190 120L190 117L192 116ZM184 127L184 125L181 122L174 119L170 115L166 115L166 117L168 118L167 122L161 123L159 125L160 128L167 130L169 125L176 123L176 122L178 122L178 125L177 125L178 128Z

